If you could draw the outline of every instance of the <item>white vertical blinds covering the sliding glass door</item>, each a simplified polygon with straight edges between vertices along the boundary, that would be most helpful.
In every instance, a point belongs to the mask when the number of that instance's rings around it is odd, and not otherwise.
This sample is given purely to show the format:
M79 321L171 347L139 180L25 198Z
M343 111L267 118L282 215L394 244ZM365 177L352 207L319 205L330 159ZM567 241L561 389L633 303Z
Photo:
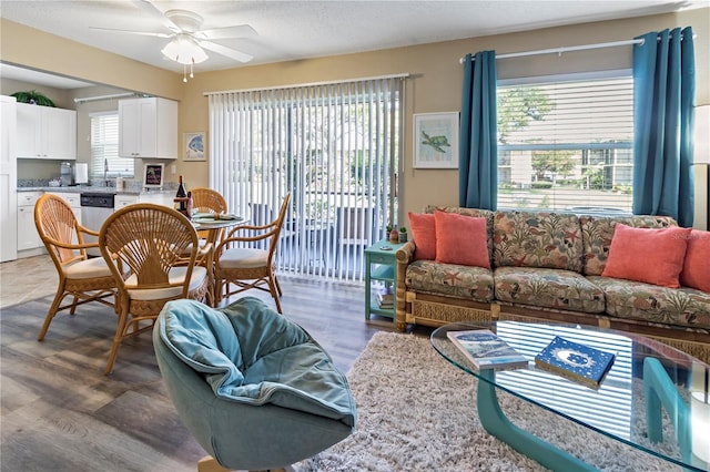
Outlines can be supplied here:
M210 186L252 223L292 194L278 270L362 280L393 220L404 76L209 94Z

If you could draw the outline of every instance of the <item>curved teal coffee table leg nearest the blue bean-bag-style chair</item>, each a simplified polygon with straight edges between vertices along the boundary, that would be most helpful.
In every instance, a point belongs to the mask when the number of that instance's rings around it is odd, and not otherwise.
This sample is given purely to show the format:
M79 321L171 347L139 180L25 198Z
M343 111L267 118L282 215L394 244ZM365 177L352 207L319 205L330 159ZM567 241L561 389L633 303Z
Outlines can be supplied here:
M481 377L490 380L490 382L487 382L484 379L478 379L477 392L478 415L480 423L488 433L509 444L519 453L554 471L597 471L586 462L513 424L500 410L496 387L493 384L495 371L481 370L480 373Z

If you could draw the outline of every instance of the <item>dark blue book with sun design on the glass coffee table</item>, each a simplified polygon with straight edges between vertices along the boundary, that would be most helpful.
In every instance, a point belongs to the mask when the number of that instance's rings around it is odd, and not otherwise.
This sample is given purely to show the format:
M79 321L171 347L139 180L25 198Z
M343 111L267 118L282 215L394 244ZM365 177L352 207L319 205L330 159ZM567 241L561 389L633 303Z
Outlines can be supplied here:
M556 336L537 356L535 366L598 389L616 356Z

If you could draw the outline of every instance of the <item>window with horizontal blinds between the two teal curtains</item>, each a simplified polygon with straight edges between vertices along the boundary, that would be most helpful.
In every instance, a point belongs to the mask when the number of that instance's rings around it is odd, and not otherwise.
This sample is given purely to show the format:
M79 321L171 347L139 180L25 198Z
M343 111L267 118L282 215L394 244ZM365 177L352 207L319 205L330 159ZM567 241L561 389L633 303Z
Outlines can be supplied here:
M630 213L633 80L499 84L498 207Z

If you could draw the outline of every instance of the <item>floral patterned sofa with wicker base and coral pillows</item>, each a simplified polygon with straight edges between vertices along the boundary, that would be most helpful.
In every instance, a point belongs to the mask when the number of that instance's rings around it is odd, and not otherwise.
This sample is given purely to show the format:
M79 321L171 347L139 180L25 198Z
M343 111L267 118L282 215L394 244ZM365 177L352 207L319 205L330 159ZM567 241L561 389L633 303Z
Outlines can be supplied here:
M416 258L415 234L396 254L399 330L545 319L650 336L710 362L710 293L601 275L617 223L667 228L677 226L672 218L433 206L424 213L435 211L486 218L490 268Z

